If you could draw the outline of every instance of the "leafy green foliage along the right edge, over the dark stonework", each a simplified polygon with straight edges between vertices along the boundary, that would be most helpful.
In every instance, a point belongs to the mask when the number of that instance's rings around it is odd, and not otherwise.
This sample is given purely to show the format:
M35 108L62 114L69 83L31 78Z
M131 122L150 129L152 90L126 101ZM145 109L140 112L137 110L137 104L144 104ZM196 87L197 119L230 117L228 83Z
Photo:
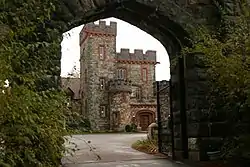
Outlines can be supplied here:
M234 20L222 12L217 32L196 29L193 48L184 55L203 54L210 92L211 121L226 121L231 135L224 141L223 156L250 159L250 8ZM219 115L220 116L219 118Z

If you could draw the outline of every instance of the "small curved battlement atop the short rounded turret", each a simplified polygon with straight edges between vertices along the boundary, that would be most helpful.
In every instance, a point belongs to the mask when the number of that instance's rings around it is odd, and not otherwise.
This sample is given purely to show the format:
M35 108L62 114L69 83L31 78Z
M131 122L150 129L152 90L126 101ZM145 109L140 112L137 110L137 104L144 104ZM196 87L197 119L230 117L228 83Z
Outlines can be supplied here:
M124 79L113 79L109 81L109 92L132 92L131 81Z

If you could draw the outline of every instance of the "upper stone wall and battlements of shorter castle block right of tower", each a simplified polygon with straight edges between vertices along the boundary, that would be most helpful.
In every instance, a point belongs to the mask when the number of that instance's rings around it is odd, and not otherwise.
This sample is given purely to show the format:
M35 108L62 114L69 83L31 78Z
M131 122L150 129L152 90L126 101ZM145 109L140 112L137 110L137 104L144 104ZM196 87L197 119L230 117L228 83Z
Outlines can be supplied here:
M123 61L121 61L121 59ZM145 59L147 61L145 61ZM121 49L120 53L117 53L117 60L118 63L116 64L116 68L126 69L127 79L131 81L134 88L140 91L140 98L132 96L131 102L155 103L156 99L153 96L153 82L155 81L156 53L147 51L146 54L143 54L143 51L138 49L134 50L134 53L130 53L129 49ZM143 69L147 70L146 81L142 80ZM132 91L136 91L136 89ZM132 93L136 94L136 92Z

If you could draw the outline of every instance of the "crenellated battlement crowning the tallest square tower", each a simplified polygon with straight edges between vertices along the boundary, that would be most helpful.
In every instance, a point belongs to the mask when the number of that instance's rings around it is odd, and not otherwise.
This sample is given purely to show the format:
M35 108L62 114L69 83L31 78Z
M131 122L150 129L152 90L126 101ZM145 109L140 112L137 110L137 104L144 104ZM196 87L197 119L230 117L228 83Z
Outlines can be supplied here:
M85 24L80 34L84 31L93 32L93 33L102 33L109 35L116 35L117 33L117 23L111 21L110 25L106 24L106 21L100 20L99 24L93 22Z

